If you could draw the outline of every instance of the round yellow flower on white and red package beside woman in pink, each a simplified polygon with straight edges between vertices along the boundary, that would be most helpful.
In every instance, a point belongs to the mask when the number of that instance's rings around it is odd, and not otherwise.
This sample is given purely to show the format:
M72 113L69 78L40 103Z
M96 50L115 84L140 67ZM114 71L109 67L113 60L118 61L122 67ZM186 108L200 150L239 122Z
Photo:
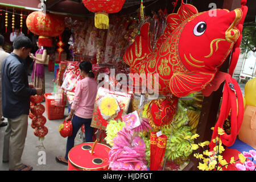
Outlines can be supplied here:
M116 113L118 104L115 98L106 97L100 104L101 113L104 115L112 116Z

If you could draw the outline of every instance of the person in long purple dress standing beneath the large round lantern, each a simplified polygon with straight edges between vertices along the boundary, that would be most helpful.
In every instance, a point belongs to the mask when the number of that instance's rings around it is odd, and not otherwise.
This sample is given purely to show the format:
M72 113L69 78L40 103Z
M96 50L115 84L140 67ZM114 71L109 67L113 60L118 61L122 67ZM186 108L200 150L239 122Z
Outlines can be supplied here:
M38 46L38 50L35 52L35 56L30 53L30 58L34 60L33 70L31 73L31 82L37 88L43 89L43 94L46 91L45 80L44 80L44 63L47 59L47 49L46 47L40 46L38 40L36 40L36 45ZM36 57L36 55L42 55L42 59ZM36 63L39 61L40 63Z

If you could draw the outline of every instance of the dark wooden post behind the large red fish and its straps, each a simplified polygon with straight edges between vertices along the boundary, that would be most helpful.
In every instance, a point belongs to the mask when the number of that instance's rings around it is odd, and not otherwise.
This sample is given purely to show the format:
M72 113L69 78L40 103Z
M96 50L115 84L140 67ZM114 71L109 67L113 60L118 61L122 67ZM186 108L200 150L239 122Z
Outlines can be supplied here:
M241 0L224 0L222 9L234 10L237 7L241 7ZM232 52L230 53L230 55ZM227 57L226 61L221 65L220 71L228 73L230 55ZM222 97L222 90L224 83L220 85L220 88L213 92L209 97L204 97L202 110L200 114L199 124L197 126L197 134L200 135L199 138L195 140L195 143L204 142L206 140L210 141L212 138L211 127L214 127L217 121L218 110L220 107L220 101ZM197 150L200 154L203 153L201 148ZM199 162L198 160L191 155L190 163L183 169L183 171L197 171Z

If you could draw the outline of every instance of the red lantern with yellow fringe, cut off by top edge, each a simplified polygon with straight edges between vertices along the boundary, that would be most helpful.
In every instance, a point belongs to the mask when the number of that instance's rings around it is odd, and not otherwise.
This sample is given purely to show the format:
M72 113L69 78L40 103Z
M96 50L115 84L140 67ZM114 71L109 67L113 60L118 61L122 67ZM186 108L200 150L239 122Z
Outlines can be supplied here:
M109 13L117 13L122 9L125 0L82 0L84 6L95 13L94 24L96 28L108 29Z

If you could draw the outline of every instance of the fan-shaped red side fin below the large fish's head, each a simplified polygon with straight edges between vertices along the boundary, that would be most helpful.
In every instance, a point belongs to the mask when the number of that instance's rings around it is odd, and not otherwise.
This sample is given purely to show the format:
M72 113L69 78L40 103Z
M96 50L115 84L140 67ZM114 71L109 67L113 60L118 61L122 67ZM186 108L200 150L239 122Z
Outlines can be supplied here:
M191 93L199 92L214 78L214 73L205 72L176 72L169 82L171 92L176 97L188 96Z

